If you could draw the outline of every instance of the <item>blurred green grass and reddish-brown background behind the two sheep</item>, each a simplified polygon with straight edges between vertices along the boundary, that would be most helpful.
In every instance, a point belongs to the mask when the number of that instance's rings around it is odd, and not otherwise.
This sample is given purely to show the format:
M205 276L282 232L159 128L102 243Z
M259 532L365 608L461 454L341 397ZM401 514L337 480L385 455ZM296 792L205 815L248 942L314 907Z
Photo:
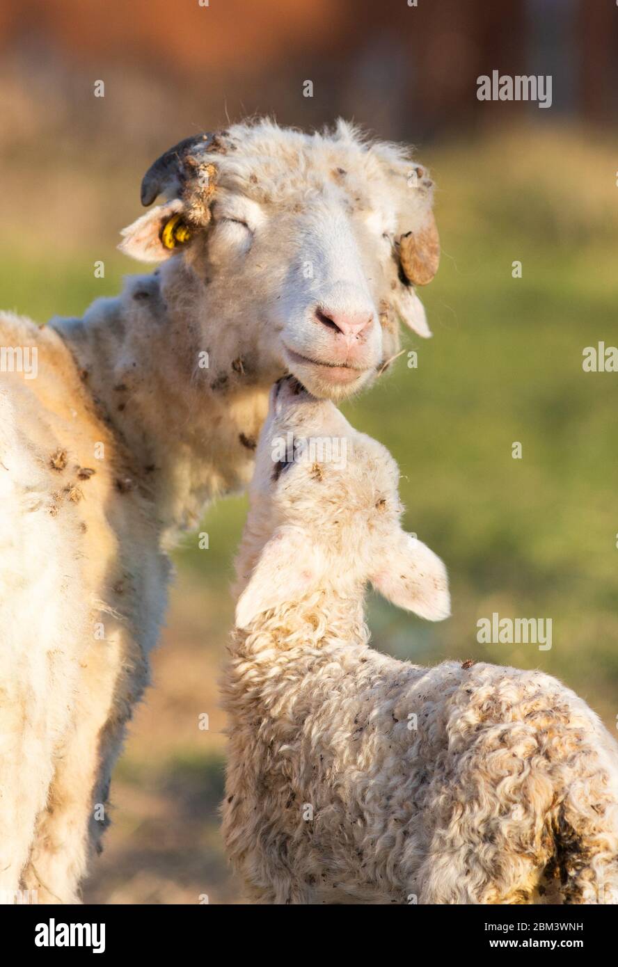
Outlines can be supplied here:
M202 4L4 0L0 305L44 321L116 293L139 271L115 245L141 214L141 176L191 132L341 114L417 145L438 186L442 265L422 293L434 338L405 336L418 368L403 356L345 410L397 457L406 525L446 561L454 612L433 627L373 598L374 645L543 668L615 734L618 374L581 366L584 347L618 344L614 0ZM477 101L492 70L551 74L552 106ZM190 535L176 554L88 902L239 899L219 834L217 678L245 513L243 498L210 508L210 549ZM551 650L479 644L493 611L551 618Z

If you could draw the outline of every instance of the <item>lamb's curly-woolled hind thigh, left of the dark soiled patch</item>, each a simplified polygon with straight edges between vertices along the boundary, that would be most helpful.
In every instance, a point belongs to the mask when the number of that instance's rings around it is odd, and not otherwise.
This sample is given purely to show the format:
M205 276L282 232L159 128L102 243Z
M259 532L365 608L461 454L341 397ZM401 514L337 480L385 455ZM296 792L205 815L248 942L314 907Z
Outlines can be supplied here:
M436 826L419 871L420 903L539 902L554 852L551 765L518 722L487 729L474 756L456 759L437 799Z

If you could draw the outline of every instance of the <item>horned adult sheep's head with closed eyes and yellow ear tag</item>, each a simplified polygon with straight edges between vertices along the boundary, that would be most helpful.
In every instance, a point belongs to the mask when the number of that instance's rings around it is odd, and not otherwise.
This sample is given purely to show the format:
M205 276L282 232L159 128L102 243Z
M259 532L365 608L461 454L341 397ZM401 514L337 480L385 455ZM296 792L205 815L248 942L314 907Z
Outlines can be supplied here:
M338 399L397 353L397 319L430 336L411 278L437 268L431 182L403 151L344 124L313 135L237 125L162 156L142 197L159 190L177 197L126 229L121 248L183 259L206 283L191 290L195 317L249 345L259 373L289 371Z

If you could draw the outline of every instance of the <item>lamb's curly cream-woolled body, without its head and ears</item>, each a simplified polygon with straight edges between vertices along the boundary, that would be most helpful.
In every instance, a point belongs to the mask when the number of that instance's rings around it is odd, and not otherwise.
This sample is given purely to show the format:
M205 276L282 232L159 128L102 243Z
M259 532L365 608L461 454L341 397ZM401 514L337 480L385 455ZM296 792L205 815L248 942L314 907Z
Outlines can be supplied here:
M345 606L235 632L223 834L253 900L618 902L616 747L585 702L386 657Z

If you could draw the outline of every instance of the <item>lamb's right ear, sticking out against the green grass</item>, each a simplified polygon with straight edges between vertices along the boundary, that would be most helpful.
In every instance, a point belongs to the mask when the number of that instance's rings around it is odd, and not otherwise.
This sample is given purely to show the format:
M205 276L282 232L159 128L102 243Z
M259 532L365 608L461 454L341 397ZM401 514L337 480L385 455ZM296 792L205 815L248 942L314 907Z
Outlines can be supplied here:
M378 569L370 580L388 601L414 611L428 621L442 621L451 614L446 568L427 544L397 531L378 555Z

